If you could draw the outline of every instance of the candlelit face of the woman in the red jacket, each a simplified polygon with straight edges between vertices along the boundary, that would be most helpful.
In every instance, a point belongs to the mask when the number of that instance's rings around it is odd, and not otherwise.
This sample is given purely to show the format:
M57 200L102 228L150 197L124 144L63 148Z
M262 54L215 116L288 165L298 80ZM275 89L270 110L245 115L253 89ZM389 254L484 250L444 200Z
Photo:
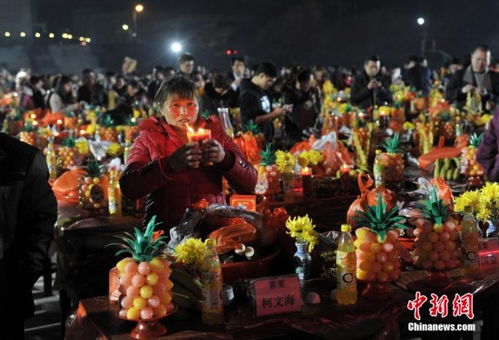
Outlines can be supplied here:
M196 98L179 98L176 95L169 96L163 105L163 116L166 122L178 129L185 130L194 126L198 120L199 105Z

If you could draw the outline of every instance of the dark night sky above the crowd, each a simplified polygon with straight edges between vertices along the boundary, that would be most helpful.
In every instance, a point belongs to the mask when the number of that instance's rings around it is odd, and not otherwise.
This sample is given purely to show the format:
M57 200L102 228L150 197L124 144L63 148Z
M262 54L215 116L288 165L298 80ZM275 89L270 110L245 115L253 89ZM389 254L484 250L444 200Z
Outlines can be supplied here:
M173 40L208 67L225 66L227 48L252 62L352 66L378 54L394 66L420 53L425 29L427 50L438 50L427 54L434 65L443 55L463 58L479 43L499 53L499 1L492 0L144 0L139 37L130 42L121 25L132 25L135 3L32 0L33 20L51 30L85 31L94 37L96 53L103 49L117 54L108 59L119 60L135 53L148 66L173 64L168 51ZM420 16L426 19L423 27L416 23Z

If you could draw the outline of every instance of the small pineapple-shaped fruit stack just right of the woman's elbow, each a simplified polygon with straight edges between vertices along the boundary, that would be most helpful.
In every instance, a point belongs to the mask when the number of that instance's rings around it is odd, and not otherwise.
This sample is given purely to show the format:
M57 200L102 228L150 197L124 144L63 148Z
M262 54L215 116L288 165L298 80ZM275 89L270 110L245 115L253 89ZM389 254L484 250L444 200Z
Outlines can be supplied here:
M267 144L265 150L260 153L261 163L258 167L258 182L255 193L258 195L271 196L281 192L280 172L275 164L275 154L272 145Z

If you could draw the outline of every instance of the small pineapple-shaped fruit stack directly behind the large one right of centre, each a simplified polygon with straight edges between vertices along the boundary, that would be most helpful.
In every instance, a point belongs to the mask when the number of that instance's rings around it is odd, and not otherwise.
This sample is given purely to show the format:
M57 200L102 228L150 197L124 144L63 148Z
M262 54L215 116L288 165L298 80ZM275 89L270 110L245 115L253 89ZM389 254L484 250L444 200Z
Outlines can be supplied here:
M384 180L386 188L398 191L404 183L404 158L402 150L399 148L399 134L386 138L381 147L385 149L379 155L379 161L383 166Z

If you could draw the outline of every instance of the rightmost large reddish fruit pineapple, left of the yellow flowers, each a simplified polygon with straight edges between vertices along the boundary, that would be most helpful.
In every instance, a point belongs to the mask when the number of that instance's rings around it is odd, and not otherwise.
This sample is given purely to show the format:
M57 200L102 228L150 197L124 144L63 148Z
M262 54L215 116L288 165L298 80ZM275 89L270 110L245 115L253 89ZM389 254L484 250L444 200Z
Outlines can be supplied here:
M437 190L432 188L429 199L419 206L424 218L418 218L414 224L414 264L427 270L456 268L459 260L459 226L450 217L449 206L438 198Z

